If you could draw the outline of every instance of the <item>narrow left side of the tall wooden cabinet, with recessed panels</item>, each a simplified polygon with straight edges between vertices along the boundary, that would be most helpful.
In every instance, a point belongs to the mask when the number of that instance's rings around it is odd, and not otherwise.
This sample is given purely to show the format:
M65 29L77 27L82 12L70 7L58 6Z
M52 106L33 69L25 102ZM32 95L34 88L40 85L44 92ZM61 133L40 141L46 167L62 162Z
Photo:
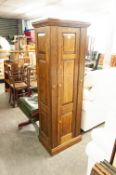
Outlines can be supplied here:
M37 67L38 67L38 89L39 89L39 114L40 114L40 137L49 142L49 50L50 50L50 28L41 27L37 29Z

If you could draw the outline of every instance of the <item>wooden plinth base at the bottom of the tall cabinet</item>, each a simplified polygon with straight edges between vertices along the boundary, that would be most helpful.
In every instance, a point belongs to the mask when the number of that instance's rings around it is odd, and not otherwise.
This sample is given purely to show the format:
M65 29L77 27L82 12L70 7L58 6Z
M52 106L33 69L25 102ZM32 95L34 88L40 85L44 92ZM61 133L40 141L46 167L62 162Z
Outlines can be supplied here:
M82 139L81 135L79 135L78 137L74 137L72 138L71 140L61 144L61 145L58 145L57 147L55 148L50 148L50 146L41 138L41 136L39 136L39 140L40 142L42 143L42 145L46 148L46 150L49 152L50 155L55 155L63 150L65 150L66 148L80 142Z

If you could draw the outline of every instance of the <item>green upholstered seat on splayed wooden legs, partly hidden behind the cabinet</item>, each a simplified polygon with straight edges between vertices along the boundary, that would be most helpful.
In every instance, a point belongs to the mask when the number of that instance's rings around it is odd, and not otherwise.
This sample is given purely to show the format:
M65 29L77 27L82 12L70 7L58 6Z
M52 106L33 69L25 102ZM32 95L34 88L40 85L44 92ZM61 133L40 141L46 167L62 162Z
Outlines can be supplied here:
M20 97L18 106L29 119L26 122L20 123L18 125L19 129L32 123L38 131L38 125L36 124L39 121L38 94L31 95L30 97Z

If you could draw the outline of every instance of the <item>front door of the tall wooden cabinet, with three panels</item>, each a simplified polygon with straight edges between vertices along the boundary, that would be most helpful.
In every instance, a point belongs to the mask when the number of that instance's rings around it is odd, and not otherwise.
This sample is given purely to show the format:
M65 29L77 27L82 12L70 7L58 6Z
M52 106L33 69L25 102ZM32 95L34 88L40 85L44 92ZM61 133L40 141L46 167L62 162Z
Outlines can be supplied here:
M58 31L58 117L59 143L74 137L80 29L59 27Z

